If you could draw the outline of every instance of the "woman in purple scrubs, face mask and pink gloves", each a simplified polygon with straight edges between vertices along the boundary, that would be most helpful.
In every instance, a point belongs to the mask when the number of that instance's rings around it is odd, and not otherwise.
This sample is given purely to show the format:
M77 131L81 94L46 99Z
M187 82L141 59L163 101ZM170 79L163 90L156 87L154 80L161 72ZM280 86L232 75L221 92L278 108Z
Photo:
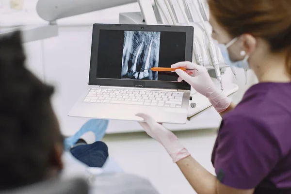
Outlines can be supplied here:
M209 98L223 120L210 174L168 129L145 114L140 123L165 147L198 194L291 194L291 0L208 0L212 37L228 65L259 79L235 105L207 70L180 62L178 81Z

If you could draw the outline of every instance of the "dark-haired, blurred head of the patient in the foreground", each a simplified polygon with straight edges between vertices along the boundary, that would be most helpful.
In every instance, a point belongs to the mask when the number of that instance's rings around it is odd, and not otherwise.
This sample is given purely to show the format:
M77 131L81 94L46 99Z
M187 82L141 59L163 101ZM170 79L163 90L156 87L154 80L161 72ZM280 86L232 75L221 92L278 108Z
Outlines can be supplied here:
M0 190L39 182L62 169L53 88L24 63L20 32L0 36Z

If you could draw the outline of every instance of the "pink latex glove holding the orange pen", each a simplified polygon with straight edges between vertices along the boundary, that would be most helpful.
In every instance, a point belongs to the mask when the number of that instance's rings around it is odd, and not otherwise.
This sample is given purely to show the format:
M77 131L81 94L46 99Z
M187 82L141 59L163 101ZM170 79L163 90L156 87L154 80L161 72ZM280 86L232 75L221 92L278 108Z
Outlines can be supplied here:
M205 67L191 62L179 62L171 67L194 69L187 70L186 72L177 69L176 73L180 76L178 81L184 80L188 82L197 92L207 97L218 113L224 112L229 107L231 99L226 97L221 90L215 87Z

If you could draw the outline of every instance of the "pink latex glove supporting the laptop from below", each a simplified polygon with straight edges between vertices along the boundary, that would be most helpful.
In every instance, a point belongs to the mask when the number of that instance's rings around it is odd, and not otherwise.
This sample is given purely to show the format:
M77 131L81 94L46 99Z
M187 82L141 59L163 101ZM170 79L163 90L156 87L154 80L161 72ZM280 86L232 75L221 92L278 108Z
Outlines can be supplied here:
M164 128L161 124L157 123L149 115L139 113L136 114L144 119L144 122L139 124L145 129L146 133L160 142L162 146L167 150L173 162L178 162L188 156L190 153L188 150L179 143L178 137L169 129Z

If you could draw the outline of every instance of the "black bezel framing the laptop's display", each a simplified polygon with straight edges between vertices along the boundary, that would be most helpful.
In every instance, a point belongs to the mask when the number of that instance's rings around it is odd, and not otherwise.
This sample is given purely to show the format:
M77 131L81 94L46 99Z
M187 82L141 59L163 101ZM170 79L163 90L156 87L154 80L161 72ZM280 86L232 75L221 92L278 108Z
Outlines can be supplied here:
M187 82L172 81L141 81L126 79L97 78L97 54L100 30L120 31L153 31L153 32L186 32L185 61L192 62L194 28L192 26L164 26L164 25L129 25L129 24L94 24L92 33L91 60L89 72L89 85L121 86L121 87L145 87L190 90Z

